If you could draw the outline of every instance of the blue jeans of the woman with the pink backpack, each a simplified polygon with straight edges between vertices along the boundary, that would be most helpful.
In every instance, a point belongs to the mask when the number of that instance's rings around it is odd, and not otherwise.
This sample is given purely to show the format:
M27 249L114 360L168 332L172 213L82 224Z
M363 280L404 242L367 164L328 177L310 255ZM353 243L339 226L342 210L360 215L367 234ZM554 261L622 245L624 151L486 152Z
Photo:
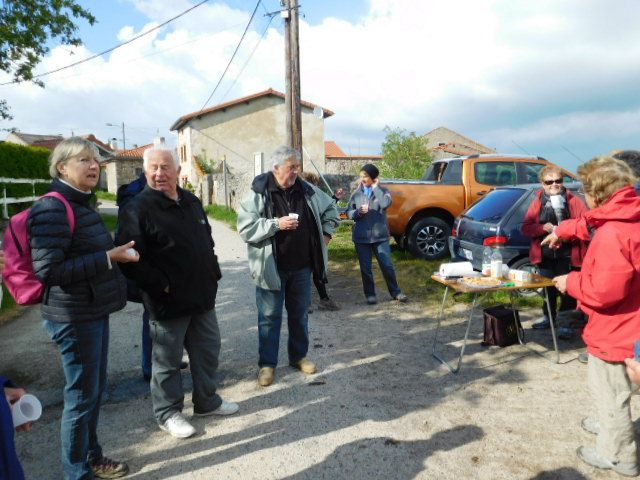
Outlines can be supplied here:
M60 427L64 478L92 479L89 462L102 457L96 430L107 384L109 317L81 323L45 319L44 327L58 345L65 376Z

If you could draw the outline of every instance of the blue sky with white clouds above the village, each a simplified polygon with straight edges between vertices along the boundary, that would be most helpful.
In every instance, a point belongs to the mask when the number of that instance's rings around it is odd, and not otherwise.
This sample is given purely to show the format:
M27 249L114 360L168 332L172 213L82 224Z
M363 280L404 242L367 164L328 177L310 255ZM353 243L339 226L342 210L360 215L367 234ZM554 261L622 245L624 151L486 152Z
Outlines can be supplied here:
M83 0L98 18L80 48L52 45L37 72L144 32L194 0ZM300 0L302 97L335 112L326 139L379 153L384 127L446 126L503 153L571 170L613 148L640 148L637 0ZM149 143L199 110L238 45L253 0L209 0L110 54L46 76L46 88L0 87L27 133L95 133ZM284 91L282 19L262 0L207 106ZM0 83L9 78L0 74ZM120 142L121 143L121 142ZM579 160L580 159L580 160Z

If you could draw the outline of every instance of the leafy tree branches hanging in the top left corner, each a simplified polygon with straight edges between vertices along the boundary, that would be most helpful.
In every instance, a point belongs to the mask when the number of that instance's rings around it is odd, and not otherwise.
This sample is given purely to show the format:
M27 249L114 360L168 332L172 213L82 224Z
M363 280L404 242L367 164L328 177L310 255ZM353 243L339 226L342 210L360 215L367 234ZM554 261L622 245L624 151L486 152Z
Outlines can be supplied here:
M84 18L90 25L96 22L74 0L3 0L0 5L0 70L11 74L16 83L44 87L42 80L34 78L33 69L49 53L49 41L82 45L74 19ZM0 100L0 119L11 118L6 100Z

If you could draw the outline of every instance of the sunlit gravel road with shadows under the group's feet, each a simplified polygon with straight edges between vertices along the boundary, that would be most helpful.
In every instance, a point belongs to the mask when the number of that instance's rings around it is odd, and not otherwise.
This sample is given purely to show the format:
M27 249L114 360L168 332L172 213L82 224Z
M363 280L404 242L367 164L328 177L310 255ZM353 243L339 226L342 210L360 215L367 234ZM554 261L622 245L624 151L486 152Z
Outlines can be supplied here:
M222 333L220 392L240 404L233 417L198 418L198 434L178 440L153 419L139 367L141 308L111 319L109 394L100 438L136 479L600 479L575 457L593 438L579 427L593 411L580 343L562 344L563 364L521 346L481 347L481 321L458 375L431 357L434 312L390 300L367 306L359 280L333 276L338 312L310 316L310 357L320 372L286 366L283 330L276 383L257 385L257 321L246 251L236 232L212 221L224 278L217 313ZM380 295L382 297L382 295ZM464 335L464 312L443 325L445 355ZM532 312L535 314L535 312ZM525 327L530 318L525 314ZM532 348L548 332L527 330ZM17 447L27 478L61 478L62 370L38 308L0 327L0 371L45 403ZM188 391L189 372L183 374ZM185 414L190 416L190 392ZM633 406L636 406L635 400Z

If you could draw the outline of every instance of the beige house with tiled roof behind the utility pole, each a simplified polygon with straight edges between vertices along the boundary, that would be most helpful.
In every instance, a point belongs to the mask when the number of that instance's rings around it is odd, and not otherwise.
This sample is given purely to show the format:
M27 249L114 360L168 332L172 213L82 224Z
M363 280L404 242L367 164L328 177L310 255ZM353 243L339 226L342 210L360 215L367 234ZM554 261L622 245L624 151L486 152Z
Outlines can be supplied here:
M324 172L324 119L333 112L306 101L301 110L305 166L313 161ZM253 178L271 169L271 152L287 143L285 119L285 95L273 89L183 115L171 127L178 132L181 185L210 192L205 204L237 208ZM211 189L201 185L207 174Z

